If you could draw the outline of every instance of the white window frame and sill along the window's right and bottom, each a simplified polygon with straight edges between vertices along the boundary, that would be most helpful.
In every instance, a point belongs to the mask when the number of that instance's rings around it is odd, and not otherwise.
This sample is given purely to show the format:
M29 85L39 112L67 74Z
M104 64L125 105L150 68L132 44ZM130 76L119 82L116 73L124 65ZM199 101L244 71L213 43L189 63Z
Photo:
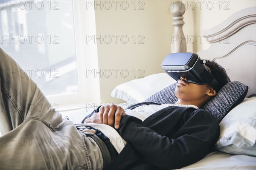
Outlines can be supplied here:
M56 111L100 104L99 77L88 76L87 70L89 68L99 70L97 44L86 43L87 35L96 35L95 11L94 8L87 8L88 1L72 0L79 92L46 96Z

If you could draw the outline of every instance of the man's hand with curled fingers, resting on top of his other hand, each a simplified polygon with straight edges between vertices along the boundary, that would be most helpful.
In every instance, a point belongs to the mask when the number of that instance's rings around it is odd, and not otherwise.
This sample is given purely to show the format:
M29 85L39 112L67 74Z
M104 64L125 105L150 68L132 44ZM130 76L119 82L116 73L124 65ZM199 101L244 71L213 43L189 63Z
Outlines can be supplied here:
M100 123L110 125L116 129L119 128L121 116L123 115L125 115L125 111L117 105L104 105L99 109Z

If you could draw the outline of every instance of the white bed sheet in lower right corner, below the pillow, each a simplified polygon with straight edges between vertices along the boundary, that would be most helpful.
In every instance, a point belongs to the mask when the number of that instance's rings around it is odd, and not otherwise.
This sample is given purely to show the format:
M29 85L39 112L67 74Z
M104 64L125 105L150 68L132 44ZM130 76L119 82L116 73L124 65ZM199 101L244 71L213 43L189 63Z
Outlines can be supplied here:
M256 157L215 151L182 170L256 170Z

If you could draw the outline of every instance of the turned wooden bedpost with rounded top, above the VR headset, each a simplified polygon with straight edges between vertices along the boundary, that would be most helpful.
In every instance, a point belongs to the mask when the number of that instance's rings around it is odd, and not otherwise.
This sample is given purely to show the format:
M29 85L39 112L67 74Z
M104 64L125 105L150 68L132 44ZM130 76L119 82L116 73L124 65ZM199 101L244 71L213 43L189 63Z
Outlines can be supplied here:
M172 1L170 10L173 15L172 25L174 27L171 52L186 52L186 39L182 30L182 26L184 25L182 15L185 13L185 6L181 1Z

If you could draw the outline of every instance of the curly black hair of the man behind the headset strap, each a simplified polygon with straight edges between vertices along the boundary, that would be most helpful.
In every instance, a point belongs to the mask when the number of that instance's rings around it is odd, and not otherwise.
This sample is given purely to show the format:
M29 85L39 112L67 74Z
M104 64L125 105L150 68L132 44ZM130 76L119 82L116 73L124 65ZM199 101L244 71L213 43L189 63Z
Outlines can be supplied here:
M205 65L207 65L211 72L212 76L217 80L218 82L218 89L217 92L228 82L230 82L230 78L227 75L226 70L221 67L221 65L218 65L218 63L210 60L206 60Z

